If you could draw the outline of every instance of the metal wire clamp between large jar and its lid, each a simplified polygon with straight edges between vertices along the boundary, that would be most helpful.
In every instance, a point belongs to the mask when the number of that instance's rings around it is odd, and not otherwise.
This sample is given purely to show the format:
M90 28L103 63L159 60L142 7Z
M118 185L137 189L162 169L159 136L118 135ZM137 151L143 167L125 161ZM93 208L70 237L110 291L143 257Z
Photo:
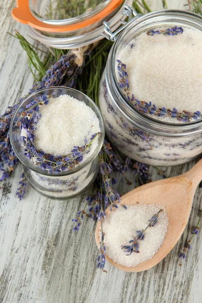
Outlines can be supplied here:
M127 16L128 21L121 21L123 26L119 27L115 32L112 32L112 29L110 27L110 22L106 22L106 21L103 22L103 25L105 27L105 32L103 33L103 35L110 41L116 41L117 35L128 26L129 22L141 16L141 14L137 14L135 10L131 9L127 5L124 5L123 9L124 11L122 15Z

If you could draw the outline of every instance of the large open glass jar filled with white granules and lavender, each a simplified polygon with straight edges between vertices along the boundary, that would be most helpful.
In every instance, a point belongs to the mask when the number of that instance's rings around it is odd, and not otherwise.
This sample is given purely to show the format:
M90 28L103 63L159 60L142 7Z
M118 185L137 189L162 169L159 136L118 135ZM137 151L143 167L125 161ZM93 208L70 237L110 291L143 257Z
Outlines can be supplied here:
M202 18L166 10L136 16L116 40L100 82L106 133L124 155L157 166L202 152Z

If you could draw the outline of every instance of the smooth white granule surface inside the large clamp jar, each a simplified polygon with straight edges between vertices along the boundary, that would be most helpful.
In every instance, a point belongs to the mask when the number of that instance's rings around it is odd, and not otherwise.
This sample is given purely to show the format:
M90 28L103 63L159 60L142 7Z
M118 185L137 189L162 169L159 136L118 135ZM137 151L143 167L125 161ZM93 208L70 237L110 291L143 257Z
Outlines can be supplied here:
M137 99L151 101L158 108L201 111L202 34L183 29L176 36L144 32L117 59L126 64L130 92Z

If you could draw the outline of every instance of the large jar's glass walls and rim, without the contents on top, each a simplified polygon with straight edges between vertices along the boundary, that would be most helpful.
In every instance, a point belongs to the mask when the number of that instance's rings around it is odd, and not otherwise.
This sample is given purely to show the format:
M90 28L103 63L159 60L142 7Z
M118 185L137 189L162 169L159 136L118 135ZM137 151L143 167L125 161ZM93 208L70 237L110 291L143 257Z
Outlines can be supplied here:
M140 113L119 88L115 69L119 53L133 38L149 29L174 26L202 31L202 18L177 10L135 17L115 41L100 82L99 106L108 138L127 157L154 166L182 164L199 155L202 121L168 123Z

